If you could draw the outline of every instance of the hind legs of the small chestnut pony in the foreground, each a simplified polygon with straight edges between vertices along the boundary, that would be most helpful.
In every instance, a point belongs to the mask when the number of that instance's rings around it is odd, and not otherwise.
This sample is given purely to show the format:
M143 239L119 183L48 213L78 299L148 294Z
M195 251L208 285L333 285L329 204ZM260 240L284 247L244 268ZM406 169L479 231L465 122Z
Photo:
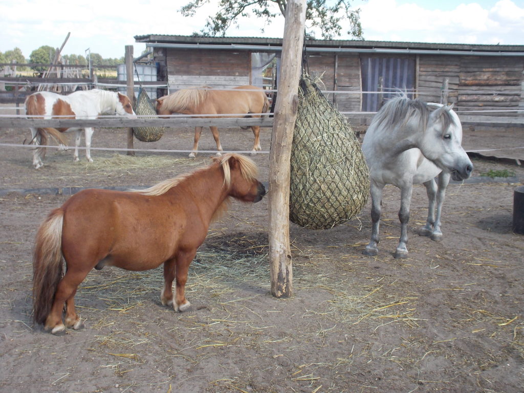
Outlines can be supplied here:
M89 270L77 270L71 269L68 266L68 271L65 273L63 278L58 283L57 291L54 293L53 305L51 306L51 311L46 319L45 329L51 331L52 334L60 335L65 332L65 325L62 322L62 311L64 308L64 303L68 301L71 297L74 297L74 294L77 291L78 286L87 276ZM71 304L71 301L69 301ZM74 306L73 306L74 313ZM70 314L69 322L73 322L73 326L77 324L73 313ZM74 315L76 315L74 313ZM77 316L78 318L78 316ZM80 329L80 325L79 325Z

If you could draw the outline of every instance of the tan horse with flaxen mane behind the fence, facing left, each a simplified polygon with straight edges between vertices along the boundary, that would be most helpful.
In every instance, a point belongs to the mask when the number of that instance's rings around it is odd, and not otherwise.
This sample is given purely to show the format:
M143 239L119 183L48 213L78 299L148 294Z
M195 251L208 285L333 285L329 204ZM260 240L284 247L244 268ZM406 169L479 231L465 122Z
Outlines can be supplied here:
M227 117L260 117L261 115L250 116L250 113L266 113L269 110L269 101L263 89L256 86L237 86L233 90L213 90L208 86L200 88L181 89L169 95L160 97L157 100L157 114L171 115L182 113L184 115L221 115L221 114L244 114ZM199 116L194 116L199 117ZM200 116L205 118L217 118L222 116ZM220 156L222 145L219 139L219 129L210 126L213 138L215 138L217 156ZM260 150L260 127L251 126L255 142L253 153ZM198 151L198 141L202 134L202 127L195 127L195 138L193 151L189 157L194 158Z

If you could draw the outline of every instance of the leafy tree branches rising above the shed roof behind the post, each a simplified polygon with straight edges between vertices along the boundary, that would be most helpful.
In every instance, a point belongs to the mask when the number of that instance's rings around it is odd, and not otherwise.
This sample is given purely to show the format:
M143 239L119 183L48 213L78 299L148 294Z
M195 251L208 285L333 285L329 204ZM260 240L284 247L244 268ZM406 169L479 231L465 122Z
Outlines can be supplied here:
M210 0L192 0L180 8L180 12L192 17L198 8L208 3ZM238 26L236 18L239 16L255 15L265 18L269 24L277 15L285 15L286 5L287 0L220 0L219 10L216 15L208 17L200 34L224 37L228 28ZM306 6L306 26L310 29L308 34L314 35L315 31L319 31L322 38L333 39L347 29L347 34L363 39L360 10L351 9L349 0L307 0Z

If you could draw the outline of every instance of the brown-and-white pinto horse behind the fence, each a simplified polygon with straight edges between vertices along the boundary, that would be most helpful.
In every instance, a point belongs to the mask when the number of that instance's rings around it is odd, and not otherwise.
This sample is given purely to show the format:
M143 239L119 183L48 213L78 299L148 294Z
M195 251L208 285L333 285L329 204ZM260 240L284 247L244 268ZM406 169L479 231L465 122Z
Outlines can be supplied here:
M33 93L26 98L26 115L36 118L85 118L94 119L99 115L108 114L136 118L133 106L128 97L121 93L106 90L80 90L69 95L60 95L42 91ZM65 144L65 139L60 133L76 131L77 138L74 149L74 160L78 161L78 147L82 128L34 128L31 127L32 143L36 146L47 144L47 134L58 139L60 144ZM91 137L94 129L85 127L85 157L89 162L91 159ZM45 156L46 148L37 147L33 151L33 165L35 169L43 166L42 159Z

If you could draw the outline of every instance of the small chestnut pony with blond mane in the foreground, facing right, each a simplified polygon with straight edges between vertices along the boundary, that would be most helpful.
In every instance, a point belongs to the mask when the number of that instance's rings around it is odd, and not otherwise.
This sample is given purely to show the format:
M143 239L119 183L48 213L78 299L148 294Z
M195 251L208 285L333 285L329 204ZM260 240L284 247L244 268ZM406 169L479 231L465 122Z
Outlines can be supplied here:
M53 210L36 235L33 318L61 334L82 322L74 310L78 286L93 268L154 269L163 263L163 305L190 307L184 288L196 249L231 198L258 202L265 195L255 163L226 154L211 165L146 190L88 189ZM205 198L202 196L205 195ZM67 269L62 278L63 260ZM173 298L172 283L176 279ZM62 310L65 303L65 325Z

